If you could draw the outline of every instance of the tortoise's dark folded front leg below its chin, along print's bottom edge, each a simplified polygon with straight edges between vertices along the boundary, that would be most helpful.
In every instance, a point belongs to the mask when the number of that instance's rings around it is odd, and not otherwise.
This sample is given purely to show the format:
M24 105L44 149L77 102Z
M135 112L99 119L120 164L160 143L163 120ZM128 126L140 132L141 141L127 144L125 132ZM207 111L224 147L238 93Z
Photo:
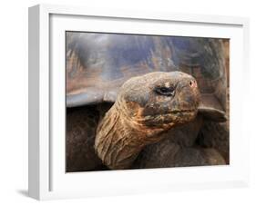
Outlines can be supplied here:
M149 145L140 153L134 168L167 168L226 164L214 149L181 147L169 139Z

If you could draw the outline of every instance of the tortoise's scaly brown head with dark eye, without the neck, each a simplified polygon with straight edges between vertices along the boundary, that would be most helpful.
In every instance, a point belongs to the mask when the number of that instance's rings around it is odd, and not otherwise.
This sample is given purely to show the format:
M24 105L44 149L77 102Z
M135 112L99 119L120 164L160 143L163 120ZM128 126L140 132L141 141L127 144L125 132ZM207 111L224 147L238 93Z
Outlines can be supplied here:
M155 72L128 80L117 105L130 122L147 128L170 128L192 121L198 112L200 92L187 73Z

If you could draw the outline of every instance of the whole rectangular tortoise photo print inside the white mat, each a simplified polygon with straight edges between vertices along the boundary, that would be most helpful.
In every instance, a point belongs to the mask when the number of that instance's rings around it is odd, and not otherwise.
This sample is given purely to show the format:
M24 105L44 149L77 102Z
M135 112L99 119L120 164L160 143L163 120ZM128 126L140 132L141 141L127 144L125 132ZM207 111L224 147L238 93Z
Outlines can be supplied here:
M222 39L67 32L66 67L67 171L229 163Z

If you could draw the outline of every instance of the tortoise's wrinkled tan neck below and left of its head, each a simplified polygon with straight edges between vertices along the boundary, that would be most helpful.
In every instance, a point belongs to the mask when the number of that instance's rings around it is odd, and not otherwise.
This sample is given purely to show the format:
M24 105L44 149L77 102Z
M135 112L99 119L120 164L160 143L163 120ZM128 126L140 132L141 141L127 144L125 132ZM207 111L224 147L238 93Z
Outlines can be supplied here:
M110 169L128 169L144 146L159 142L156 136L160 131L148 132L141 124L128 119L115 103L97 126L95 149Z

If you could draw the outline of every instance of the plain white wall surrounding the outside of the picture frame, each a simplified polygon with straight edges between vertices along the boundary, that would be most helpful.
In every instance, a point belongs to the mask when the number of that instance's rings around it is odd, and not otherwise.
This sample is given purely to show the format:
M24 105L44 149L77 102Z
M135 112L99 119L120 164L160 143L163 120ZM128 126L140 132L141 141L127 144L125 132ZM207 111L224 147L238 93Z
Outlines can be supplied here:
M0 38L0 203L31 204L36 200L27 198L27 7L44 0L8 0L1 2ZM87 200L50 201L56 204L255 204L256 198L256 105L255 55L256 55L256 12L253 1L98 1L98 0L52 0L51 4L100 6L106 8L125 8L155 10L175 13L239 15L251 18L251 82L244 89L251 89L246 99L245 110L247 130L251 135L251 187L232 190L177 191L154 195L109 197ZM253 36L255 36L253 38ZM3 46L4 45L4 46ZM252 47L254 45L254 47ZM243 69L243 68L241 68ZM240 82L238 82L240 83ZM254 106L255 106L254 105ZM239 126L239 125L238 125ZM242 136L241 136L242 140ZM249 159L244 159L248 161ZM5 202L4 202L4 201Z

